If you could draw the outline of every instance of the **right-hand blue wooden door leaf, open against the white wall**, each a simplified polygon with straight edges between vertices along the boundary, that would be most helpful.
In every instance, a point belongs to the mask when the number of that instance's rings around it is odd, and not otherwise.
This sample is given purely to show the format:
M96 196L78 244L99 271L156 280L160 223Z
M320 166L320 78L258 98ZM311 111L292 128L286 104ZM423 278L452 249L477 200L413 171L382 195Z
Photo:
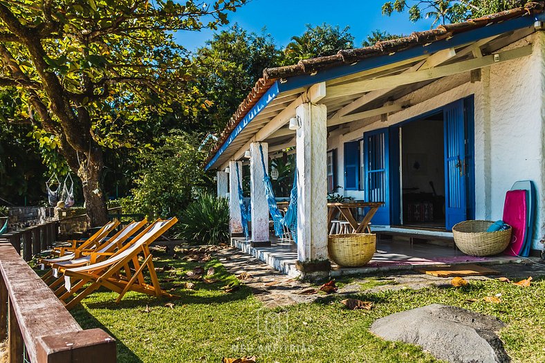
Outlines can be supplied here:
M443 109L445 122L445 227L467 218L465 122L463 100Z

